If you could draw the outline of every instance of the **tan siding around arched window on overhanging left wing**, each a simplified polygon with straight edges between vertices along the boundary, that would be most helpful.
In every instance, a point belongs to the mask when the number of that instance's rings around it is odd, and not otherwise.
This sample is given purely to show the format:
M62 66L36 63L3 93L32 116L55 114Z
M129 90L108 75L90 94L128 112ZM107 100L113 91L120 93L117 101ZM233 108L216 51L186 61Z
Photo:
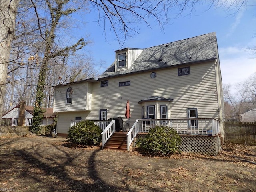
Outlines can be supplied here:
M87 95L91 93L91 90L88 90L88 83L83 82L71 84L70 86L55 87L54 112L88 110L87 106L90 108L90 103L87 103ZM72 104L66 104L66 91L69 87L73 90Z

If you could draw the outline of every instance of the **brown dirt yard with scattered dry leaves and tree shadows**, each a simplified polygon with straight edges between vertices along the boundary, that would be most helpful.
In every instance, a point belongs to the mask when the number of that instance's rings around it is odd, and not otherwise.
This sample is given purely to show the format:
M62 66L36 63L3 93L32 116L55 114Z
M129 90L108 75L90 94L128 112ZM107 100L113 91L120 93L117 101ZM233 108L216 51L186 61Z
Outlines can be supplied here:
M256 192L256 147L168 158L72 146L65 138L1 138L1 191Z

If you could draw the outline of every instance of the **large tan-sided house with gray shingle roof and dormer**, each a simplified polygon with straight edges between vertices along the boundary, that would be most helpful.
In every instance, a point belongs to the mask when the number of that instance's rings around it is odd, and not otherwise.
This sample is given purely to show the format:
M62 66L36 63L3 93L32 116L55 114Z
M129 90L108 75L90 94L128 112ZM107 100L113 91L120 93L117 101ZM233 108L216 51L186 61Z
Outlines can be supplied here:
M114 63L98 78L54 86L58 135L66 136L71 120L119 116L127 131L137 119L191 119L188 126L196 129L204 118L204 126L216 120L222 132L224 103L216 33L115 53ZM125 118L128 99L130 127Z

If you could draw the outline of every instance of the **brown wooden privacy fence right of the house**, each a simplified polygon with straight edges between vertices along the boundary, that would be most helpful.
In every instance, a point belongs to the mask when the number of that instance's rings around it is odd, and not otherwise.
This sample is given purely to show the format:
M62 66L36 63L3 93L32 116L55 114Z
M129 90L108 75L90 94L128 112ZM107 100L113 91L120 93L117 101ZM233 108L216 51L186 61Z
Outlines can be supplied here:
M256 122L225 122L225 141L256 146Z

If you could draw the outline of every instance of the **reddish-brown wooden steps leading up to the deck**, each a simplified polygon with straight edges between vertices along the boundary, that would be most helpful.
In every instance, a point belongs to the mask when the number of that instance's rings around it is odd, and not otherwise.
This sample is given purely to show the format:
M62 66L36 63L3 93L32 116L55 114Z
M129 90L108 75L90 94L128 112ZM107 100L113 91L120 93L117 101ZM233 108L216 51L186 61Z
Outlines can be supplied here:
M115 132L106 142L104 149L127 150L127 133Z

